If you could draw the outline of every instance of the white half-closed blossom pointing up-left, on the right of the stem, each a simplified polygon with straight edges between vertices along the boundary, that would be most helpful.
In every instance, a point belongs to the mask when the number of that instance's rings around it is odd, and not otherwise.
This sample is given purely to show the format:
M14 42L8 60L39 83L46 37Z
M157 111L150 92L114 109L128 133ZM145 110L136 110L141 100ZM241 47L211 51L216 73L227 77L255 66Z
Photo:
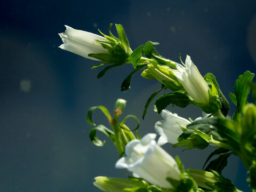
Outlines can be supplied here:
M174 75L195 102L207 105L209 103L209 86L191 61L189 55L187 55L185 65L186 67L183 67L177 63L178 71L174 71Z

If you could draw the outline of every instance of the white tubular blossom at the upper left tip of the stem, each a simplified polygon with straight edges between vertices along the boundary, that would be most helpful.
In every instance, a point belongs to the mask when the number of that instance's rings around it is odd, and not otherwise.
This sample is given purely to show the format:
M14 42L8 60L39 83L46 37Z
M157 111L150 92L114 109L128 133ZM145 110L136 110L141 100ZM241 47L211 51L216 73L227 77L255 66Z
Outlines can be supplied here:
M76 30L69 26L66 26L65 33L60 33L59 36L62 39L63 44L59 47L63 50L70 51L72 53L81 55L87 59L96 60L93 57L89 57L90 53L108 53L107 49L104 49L95 40L107 41L106 38L93 33L89 33L83 30Z

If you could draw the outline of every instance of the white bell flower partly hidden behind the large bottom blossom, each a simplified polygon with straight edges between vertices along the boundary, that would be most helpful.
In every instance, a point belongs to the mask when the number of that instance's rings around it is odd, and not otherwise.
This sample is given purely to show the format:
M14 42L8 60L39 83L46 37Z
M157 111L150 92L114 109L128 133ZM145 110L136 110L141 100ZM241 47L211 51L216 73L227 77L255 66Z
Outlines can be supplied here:
M186 127L186 125L191 122L177 114L171 113L168 110L162 110L161 116L163 117L163 120L158 121L155 124L155 130L160 135L157 141L158 145L162 146L166 142L170 142L172 144L177 143L178 137L183 133L179 124Z

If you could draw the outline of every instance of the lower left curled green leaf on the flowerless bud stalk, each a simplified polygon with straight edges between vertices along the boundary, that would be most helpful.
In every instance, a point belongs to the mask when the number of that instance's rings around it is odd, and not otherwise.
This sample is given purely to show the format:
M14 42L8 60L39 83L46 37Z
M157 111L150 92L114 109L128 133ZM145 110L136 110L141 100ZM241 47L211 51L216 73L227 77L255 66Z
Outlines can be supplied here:
M102 133L106 134L111 141L115 142L115 136L114 136L114 132L109 130L107 127L105 127L104 125L98 125L97 127L91 129L90 133L89 133L89 137L91 139L91 141L93 142L93 144L95 146L99 146L102 147L105 145L106 141L101 141L96 134L96 131L101 131Z

